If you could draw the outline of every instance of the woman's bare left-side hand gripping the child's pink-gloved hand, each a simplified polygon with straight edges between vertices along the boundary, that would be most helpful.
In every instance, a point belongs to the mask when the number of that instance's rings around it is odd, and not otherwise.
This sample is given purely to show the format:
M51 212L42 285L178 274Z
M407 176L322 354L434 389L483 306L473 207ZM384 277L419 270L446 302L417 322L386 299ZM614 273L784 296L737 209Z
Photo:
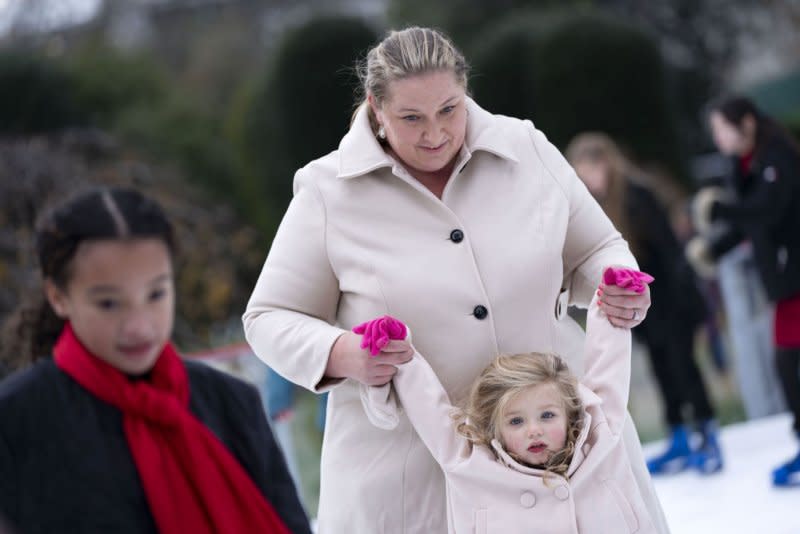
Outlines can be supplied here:
M406 340L392 340L375 356L361 348L361 336L345 332L331 348L325 376L331 378L352 378L368 386L382 386L389 382L402 365L414 355L411 343Z

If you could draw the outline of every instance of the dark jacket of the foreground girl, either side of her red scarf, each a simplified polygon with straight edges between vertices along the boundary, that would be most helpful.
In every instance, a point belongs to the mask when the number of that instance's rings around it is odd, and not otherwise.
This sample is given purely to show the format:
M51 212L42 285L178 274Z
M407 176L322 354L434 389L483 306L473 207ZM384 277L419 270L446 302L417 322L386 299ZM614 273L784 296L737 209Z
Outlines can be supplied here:
M310 528L252 386L186 362L192 413L239 460L291 532ZM19 534L157 532L122 427L52 359L0 383L0 518Z

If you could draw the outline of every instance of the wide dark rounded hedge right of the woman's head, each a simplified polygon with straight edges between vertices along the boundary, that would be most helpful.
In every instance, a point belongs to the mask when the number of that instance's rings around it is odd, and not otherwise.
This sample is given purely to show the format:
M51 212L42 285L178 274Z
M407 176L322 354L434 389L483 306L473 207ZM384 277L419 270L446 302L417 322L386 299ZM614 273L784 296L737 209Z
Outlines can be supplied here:
M551 12L517 14L481 42L473 92L490 111L533 120L560 148L604 131L685 179L666 66L644 33L591 11Z

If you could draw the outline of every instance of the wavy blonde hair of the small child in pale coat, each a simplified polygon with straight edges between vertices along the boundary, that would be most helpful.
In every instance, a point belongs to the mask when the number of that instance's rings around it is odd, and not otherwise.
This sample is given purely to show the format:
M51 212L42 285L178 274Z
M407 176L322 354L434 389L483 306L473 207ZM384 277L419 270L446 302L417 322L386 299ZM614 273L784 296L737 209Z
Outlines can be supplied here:
M473 446L492 450L493 439L502 443L498 422L509 401L523 390L542 384L558 388L567 415L566 444L543 467L547 472L566 477L583 427L583 403L578 395L578 380L564 360L554 354L525 353L495 358L475 380L464 406L454 414L456 430Z

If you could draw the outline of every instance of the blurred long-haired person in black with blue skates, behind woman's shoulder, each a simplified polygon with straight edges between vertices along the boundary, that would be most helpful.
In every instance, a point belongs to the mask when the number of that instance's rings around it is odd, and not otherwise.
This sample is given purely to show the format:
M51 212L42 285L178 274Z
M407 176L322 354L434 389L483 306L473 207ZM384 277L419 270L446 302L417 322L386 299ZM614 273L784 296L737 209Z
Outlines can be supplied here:
M652 191L652 178L603 133L579 134L565 154L628 241L640 269L655 278L647 321L633 333L647 347L664 401L669 439L667 450L647 466L653 474L687 467L703 474L718 472L723 465L718 424L695 361L695 332L705 322L708 308L666 210ZM696 446L693 427L700 437Z

